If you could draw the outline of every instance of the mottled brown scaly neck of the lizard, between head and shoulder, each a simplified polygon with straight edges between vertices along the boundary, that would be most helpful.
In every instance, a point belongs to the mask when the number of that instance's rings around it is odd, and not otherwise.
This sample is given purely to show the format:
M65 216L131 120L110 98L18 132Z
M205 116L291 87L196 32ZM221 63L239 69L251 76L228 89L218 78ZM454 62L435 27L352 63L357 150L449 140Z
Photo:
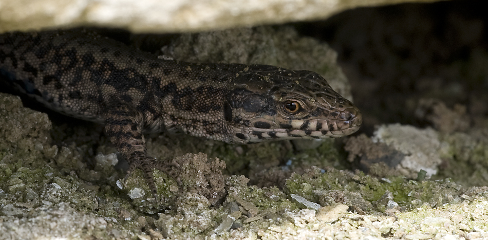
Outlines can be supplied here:
M241 64L193 64L173 62L159 71L154 96L162 113L161 125L168 132L183 132L197 137L232 142L224 116L225 98Z

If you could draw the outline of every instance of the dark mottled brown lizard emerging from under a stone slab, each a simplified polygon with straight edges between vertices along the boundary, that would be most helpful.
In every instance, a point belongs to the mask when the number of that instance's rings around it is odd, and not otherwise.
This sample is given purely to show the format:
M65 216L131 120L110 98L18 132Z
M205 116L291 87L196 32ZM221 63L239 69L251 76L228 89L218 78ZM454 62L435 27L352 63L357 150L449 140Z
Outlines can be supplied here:
M153 170L177 163L146 151L144 134L180 131L228 143L342 137L358 107L316 72L160 59L93 31L0 34L0 80L61 114L104 124L156 198Z

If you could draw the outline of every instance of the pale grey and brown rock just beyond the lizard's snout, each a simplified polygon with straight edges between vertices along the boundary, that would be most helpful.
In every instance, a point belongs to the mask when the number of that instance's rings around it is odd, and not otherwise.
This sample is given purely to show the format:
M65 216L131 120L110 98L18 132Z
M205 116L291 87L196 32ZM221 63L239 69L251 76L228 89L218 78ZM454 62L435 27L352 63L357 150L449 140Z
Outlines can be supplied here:
M360 158L362 166L373 174L392 175L388 169L391 168L397 174L414 179L422 170L427 177L436 174L442 163L441 156L447 149L448 145L441 142L439 133L432 128L401 124L381 125L371 138L365 135L352 137L345 146L349 152L348 160ZM383 170L374 169L379 166L383 166Z

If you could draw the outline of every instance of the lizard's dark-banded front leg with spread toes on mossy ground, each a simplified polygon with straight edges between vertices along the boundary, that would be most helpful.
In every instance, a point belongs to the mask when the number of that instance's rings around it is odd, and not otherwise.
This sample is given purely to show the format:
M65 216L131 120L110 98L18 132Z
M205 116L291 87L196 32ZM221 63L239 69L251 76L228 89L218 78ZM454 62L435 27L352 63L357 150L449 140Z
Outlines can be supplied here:
M174 167L178 167L177 164L169 161L160 162L147 154L144 135L142 135L144 116L140 111L124 103L113 103L106 107L104 118L105 133L129 163L125 179L136 168L142 170L155 199L157 199L157 188L153 169L158 169L180 182L177 172L173 170Z

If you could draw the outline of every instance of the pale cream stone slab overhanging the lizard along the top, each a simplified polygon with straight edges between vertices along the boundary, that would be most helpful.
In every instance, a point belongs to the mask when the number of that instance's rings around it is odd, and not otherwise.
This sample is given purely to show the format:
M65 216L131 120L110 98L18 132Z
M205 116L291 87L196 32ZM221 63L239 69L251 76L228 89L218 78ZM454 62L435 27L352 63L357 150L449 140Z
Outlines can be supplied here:
M104 26L133 32L185 32L325 19L346 9L433 0L2 0L0 32Z

